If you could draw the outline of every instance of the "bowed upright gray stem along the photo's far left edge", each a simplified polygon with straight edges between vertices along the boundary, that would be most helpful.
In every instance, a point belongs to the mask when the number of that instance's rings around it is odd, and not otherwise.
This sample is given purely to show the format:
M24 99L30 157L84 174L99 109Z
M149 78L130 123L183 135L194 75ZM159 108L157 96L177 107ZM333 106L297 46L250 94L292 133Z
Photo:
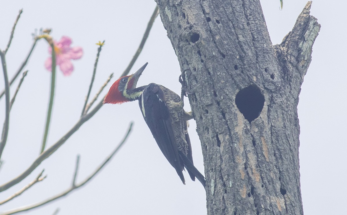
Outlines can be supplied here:
M0 160L1 160L1 155L3 150L5 149L5 145L7 141L8 128L10 123L10 83L8 82L5 52L2 52L0 50L0 57L1 57L1 63L2 63L4 82L5 82L5 106L6 106L5 122L3 123L1 142L0 142Z

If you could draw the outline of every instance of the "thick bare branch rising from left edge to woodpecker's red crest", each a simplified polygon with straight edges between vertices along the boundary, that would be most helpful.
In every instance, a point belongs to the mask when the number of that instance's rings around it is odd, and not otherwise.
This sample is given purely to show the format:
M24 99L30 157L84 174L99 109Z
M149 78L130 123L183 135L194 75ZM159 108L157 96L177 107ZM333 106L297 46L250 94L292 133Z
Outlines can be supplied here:
M81 127L85 122L87 122L90 118L92 118L92 116L94 116L96 114L96 112L98 112L98 110L100 110L100 108L102 107L102 102L103 102L103 99L88 114L81 117L77 121L77 123L64 136L62 136L60 138L60 140L58 140L51 147L49 147L43 153L41 153L33 161L33 163L30 165L30 167L28 167L28 169L26 169L24 172L20 173L19 176L12 179L11 181L8 181L5 184L1 185L0 186L0 192L9 189L10 187L16 185L17 183L19 183L20 181L25 179L30 173L32 173L36 169L36 167L38 167L41 164L42 161L44 161L51 154L53 154L55 151L57 151L59 149L59 147L62 146L67 141L67 139L79 129L79 127Z

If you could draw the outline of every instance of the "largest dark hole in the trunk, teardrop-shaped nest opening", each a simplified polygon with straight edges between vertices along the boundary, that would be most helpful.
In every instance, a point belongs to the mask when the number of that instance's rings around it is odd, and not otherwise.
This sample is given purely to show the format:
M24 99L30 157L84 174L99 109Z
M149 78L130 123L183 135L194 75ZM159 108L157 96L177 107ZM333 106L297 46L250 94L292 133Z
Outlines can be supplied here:
M259 117L264 102L265 98L263 94L255 85L249 85L248 87L243 88L235 97L237 108L249 123Z

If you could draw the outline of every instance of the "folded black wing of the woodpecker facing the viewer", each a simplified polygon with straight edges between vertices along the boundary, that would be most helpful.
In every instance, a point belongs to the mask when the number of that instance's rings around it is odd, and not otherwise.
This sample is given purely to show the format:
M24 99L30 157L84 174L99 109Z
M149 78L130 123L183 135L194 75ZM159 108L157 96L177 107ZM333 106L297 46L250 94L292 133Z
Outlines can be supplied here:
M185 184L182 173L184 165L180 160L175 134L171 125L171 116L165 99L160 86L150 83L139 98L139 106L159 149L172 167L176 169L178 176Z

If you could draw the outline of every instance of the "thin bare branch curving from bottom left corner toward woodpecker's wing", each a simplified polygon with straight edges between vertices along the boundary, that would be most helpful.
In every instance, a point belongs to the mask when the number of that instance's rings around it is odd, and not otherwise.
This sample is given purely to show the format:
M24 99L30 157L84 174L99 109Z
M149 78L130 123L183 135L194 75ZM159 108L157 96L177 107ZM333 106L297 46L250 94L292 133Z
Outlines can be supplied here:
M118 146L113 150L113 152L104 160L103 163L100 164L100 166L98 168L96 168L94 170L94 172L89 176L87 177L86 179L84 179L81 183L79 183L78 185L76 186L71 186L69 189L65 190L64 192L61 192L60 194L58 195L55 195L55 196L52 196L51 198L48 198L44 201L41 201L39 203L34 203L34 204L31 204L31 205L28 205L28 206L23 206L23 207L18 207L18 208L15 208L15 209L12 209L12 210L8 210L8 211L5 211L5 212L2 212L0 213L0 215L10 215L10 214L15 214L15 213L18 213L18 212L22 212L22 211L27 211L27 210L30 210L30 209L33 209L33 208L37 208L37 207L40 207L44 204L47 204L51 201L54 201L56 199L59 199L63 196L66 196L67 194L69 194L71 191L79 188L79 187L82 187L83 185L85 185L88 181L90 181L110 160L111 158L118 152L118 150L120 149L120 147L125 143L125 141L127 140L128 136L129 136L129 133L130 131L132 130L132 127L133 127L133 122L130 123L130 126L128 128L128 132L126 133L125 137L123 138L123 140L118 144Z

